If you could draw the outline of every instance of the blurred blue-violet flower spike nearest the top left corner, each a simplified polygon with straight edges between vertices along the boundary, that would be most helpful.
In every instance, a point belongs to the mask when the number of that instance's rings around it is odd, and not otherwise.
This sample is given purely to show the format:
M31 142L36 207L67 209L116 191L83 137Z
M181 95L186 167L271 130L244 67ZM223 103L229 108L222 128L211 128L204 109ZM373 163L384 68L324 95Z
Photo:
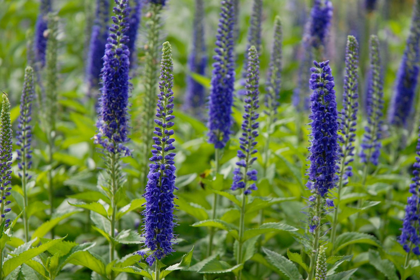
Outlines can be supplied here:
M51 0L41 0L39 15L35 23L34 54L35 61L45 65L45 50L47 49L46 30L48 28L47 14L51 12Z

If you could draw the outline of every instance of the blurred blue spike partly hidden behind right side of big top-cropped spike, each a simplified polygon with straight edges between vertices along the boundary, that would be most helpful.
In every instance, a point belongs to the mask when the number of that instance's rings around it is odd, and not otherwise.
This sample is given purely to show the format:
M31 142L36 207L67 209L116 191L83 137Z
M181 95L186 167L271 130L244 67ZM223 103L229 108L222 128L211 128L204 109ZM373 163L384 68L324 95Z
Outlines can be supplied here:
M129 21L128 21L130 28L124 34L127 37L129 37L129 39L130 39L130 41L127 42L127 44L126 44L127 47L129 48L129 51L130 51L130 55L129 55L130 67L133 67L134 62L135 62L136 39L137 39L138 29L139 29L139 26L140 26L140 21L142 19L143 1L142 0L132 0L132 3L134 3L134 5L132 5L132 7L130 9L131 13L130 13Z

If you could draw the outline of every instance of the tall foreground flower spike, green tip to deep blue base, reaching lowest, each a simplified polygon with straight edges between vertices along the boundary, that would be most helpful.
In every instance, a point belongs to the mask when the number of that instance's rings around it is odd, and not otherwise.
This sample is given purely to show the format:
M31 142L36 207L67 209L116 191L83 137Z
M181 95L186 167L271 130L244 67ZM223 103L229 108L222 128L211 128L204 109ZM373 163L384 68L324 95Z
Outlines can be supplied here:
M157 95L157 114L155 120L155 136L153 141L150 161L150 171L147 178L146 192L143 194L146 199L144 204L144 233L146 238L145 246L150 249L147 262L152 265L156 259L175 251L172 248L176 236L173 234L174 222L173 210L175 204L173 191L175 186L175 162L173 158L173 61L171 45L169 42L163 44L162 63L160 68L160 94Z

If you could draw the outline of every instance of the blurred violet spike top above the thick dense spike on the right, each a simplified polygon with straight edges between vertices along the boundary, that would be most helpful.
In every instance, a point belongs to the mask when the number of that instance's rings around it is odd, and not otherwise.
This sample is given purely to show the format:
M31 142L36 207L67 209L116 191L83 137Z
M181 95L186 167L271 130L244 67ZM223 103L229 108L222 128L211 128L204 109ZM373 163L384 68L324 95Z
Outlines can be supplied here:
M325 46L325 39L333 18L333 4L330 0L315 0L311 10L309 27L310 45Z

